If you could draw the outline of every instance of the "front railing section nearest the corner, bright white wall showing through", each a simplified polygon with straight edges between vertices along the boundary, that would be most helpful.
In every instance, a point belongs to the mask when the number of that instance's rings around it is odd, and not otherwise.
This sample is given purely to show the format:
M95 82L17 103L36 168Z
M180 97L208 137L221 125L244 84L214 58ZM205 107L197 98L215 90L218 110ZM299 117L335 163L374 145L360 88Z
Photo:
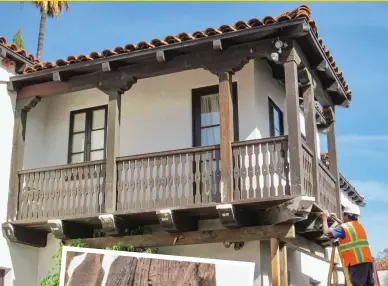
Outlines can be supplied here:
M287 136L232 144L233 200L290 194Z

